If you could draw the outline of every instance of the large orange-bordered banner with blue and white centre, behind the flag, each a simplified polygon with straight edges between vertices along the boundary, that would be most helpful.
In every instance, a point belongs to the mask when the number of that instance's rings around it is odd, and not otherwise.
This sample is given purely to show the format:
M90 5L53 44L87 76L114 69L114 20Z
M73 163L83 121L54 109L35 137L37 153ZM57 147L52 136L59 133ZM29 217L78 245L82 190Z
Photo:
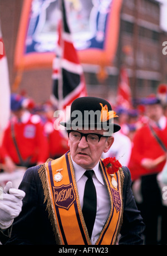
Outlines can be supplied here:
M78 3L66 1L80 62L111 65L118 45L122 0ZM24 0L14 56L17 70L52 66L58 38L58 12L57 0Z

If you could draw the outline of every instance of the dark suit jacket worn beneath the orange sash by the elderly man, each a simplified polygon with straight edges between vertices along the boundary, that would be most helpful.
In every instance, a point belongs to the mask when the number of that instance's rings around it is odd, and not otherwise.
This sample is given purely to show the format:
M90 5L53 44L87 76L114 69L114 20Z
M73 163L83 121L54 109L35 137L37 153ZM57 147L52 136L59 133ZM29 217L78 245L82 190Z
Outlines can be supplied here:
M26 192L21 214L14 220L11 238L6 244L56 244L53 235L42 183L38 175L39 166L27 169L19 189ZM127 167L124 170L123 188L123 224L119 244L143 244L144 223L137 210L131 191L131 175Z

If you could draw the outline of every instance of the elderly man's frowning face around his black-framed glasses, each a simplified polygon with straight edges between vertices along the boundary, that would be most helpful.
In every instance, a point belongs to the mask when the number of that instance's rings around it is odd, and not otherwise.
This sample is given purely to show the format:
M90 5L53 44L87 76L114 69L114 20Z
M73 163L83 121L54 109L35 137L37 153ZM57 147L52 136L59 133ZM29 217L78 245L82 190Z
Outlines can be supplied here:
M104 131L100 130L77 130L81 133L96 133L103 134ZM68 146L70 147L71 157L73 161L85 168L90 170L99 162L102 152L107 152L114 142L114 137L110 136L108 138L101 137L100 141L95 145L86 141L86 138L82 136L80 141L74 142L70 139L68 140Z

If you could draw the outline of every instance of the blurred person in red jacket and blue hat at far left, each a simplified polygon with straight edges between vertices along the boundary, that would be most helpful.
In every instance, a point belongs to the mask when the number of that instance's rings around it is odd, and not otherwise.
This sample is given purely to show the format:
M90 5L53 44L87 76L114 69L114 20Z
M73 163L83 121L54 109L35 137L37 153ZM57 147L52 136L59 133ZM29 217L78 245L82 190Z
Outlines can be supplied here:
M19 94L11 95L12 115L1 145L1 157L7 172L14 172L16 166L40 165L49 155L41 117L28 111L27 101Z

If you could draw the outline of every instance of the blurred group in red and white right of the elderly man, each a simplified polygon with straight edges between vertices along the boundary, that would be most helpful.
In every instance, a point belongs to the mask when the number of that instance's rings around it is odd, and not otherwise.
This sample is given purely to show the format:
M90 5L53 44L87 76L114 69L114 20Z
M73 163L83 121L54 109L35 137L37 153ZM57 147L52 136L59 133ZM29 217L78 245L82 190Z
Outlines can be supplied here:
M163 198L167 184L159 179L167 152L166 97L149 95L136 109L119 108L117 114L121 130L103 156L116 156L129 167L132 191L146 225L145 244L167 244Z

